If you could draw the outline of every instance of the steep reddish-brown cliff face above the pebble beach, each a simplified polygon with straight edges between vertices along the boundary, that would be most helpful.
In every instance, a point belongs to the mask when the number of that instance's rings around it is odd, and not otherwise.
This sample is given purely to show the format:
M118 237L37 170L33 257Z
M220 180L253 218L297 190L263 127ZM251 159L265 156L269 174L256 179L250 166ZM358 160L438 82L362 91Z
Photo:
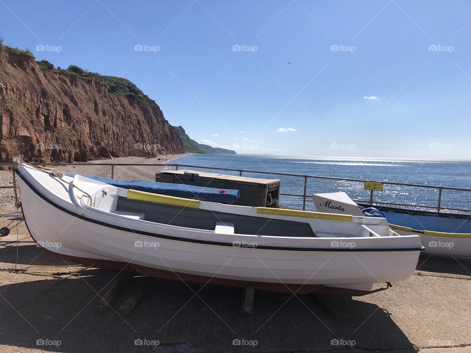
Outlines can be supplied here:
M154 102L110 94L97 80L41 69L0 50L0 161L86 161L183 153Z

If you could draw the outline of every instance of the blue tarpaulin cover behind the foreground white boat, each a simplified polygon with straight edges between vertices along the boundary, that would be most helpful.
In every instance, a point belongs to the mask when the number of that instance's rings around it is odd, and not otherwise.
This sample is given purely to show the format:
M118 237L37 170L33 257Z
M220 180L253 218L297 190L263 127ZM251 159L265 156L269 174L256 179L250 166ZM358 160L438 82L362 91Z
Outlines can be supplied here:
M73 174L67 175L72 177L74 176ZM153 194L176 196L186 199L197 199L201 201L219 203L233 203L240 199L239 191L232 189L216 189L203 186L169 184L156 181L112 179L90 175L82 176L124 189L139 190Z

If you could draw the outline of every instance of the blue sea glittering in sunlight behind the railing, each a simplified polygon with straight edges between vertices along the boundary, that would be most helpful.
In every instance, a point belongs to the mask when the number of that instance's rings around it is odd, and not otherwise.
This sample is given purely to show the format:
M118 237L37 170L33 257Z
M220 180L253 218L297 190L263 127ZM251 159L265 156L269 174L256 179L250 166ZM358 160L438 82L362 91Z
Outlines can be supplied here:
M169 163L471 189L470 160L191 154L174 159ZM172 170L174 167L168 167L168 169ZM213 171L189 167L179 167L179 169L238 175L238 172L230 171ZM303 194L304 191L303 177L274 176L259 173L243 173L243 176L280 179L282 193ZM370 197L370 191L365 190L365 183L363 182L308 178L308 195L339 191L346 192L354 200L369 200ZM373 200L437 206L438 195L437 189L384 185L383 191L373 192ZM302 209L303 199L282 195L280 204ZM444 190L441 206L469 209L471 211L471 191ZM427 209L424 207L405 208ZM314 202L310 197L306 199L306 210L315 210ZM447 211L444 209L443 212Z

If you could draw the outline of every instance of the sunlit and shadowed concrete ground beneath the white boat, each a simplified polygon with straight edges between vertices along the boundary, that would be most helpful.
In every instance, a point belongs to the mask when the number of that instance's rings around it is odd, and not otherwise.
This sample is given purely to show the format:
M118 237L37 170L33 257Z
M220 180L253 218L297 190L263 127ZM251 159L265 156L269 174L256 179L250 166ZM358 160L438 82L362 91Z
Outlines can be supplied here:
M10 222L0 218L0 227ZM96 305L117 271L11 271L30 265L65 263L36 247L20 223L0 238L0 352L471 352L467 261L421 257L407 281L353 299L259 291L253 317L239 313L240 288L161 280L123 318L117 310L143 277L103 313Z

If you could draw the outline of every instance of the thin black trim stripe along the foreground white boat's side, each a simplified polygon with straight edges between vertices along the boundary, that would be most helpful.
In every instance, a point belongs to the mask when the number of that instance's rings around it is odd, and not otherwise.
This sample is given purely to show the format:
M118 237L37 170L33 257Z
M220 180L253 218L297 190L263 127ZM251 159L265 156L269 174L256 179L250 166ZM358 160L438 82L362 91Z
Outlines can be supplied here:
M184 242L189 242L189 243L198 243L198 244L208 244L208 245L217 245L217 246L228 246L228 247L234 247L237 248L233 245L233 243L225 243L225 242L217 242L217 241L209 241L209 240L199 240L199 239L189 239L189 238L180 238L180 237L175 237L171 235L163 235L163 234L155 234L143 230L136 230L136 229L131 229L131 228L126 228L126 227L120 227L120 226L115 226L111 225L105 222L97 221L90 219L88 217L85 217L82 214L75 213L71 210L68 210L67 208L64 208L62 206L59 206L58 204L52 202L49 200L47 197L42 195L27 179L25 176L23 176L17 168L15 168L15 173L20 176L20 178L26 183L26 185L36 194L38 195L41 199L44 201L48 202L51 204L53 207L61 210L62 212L68 213L74 217L77 217L81 220L84 220L86 222L98 224L100 226L108 227L108 228L113 228L117 230L122 230L126 232L132 232L136 234L141 234L141 235L147 235L147 236L152 236L156 238L162 238L162 239L169 239L169 240L176 240L176 241L184 241ZM26 215L25 219L26 219ZM339 238L339 240L344 240L345 238ZM266 249L266 250L288 250L288 251L316 251L316 252L397 252L397 251L420 251L422 250L423 247L420 248L393 248L393 249L351 249L351 248L293 248L293 247L277 247L277 246L270 246L270 245L260 245L257 246L256 248L252 249ZM244 248L247 249L247 248Z

